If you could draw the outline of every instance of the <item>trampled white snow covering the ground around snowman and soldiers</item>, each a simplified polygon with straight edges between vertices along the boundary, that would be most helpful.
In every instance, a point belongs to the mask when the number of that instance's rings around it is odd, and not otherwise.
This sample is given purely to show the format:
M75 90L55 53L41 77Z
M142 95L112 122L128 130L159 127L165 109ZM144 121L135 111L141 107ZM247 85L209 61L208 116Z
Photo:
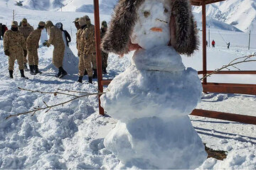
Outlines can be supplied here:
M0 5L1 5L0 1ZM3 2L4 3L4 2ZM75 27L73 19L84 16L85 13L75 12L49 12L18 9L18 20L26 16L28 21L35 24L39 20L61 21L66 28L72 27L73 40L75 40ZM2 10L2 9L1 9ZM11 21L11 9L3 8L5 16L1 21ZM90 16L92 16L89 13ZM101 19L110 20L110 16ZM93 21L93 20L92 20ZM67 29L68 30L68 29ZM69 30L68 30L69 31ZM247 41L246 35L236 40L233 36L237 33L222 31L223 36L233 40L236 45L225 47L224 42L217 43L215 49L208 48L208 68L216 69L230 60L243 55L256 52L256 47L248 51L243 45ZM219 33L212 35L218 40ZM119 160L110 151L105 149L103 139L116 124L110 117L98 115L97 97L90 96L73 101L64 106L45 111L38 111L32 117L21 115L17 118L4 120L6 116L14 113L29 111L37 106L44 106L68 101L70 96L53 96L50 94L36 94L24 89L40 91L57 91L57 89L70 89L76 91L97 91L97 83L78 84L75 74L68 75L65 79L56 79L54 72L48 70L41 75L31 76L26 72L29 80L19 78L16 64L14 79L8 77L8 57L3 52L3 42L0 40L0 169L118 169ZM242 45L240 45L242 44ZM254 43L255 45L255 43ZM75 42L70 44L74 54ZM41 47L39 49L39 68L46 67L51 62L53 48ZM129 66L132 53L119 59L116 55L109 58L109 74L106 78L113 78ZM192 57L183 57L186 67L201 70L201 50ZM240 64L240 69L253 70L255 62ZM87 77L84 79L87 80ZM251 75L218 75L210 77L209 81L235 82L255 84L256 77ZM256 96L240 94L203 94L202 102L198 108L212 111L223 111L256 116ZM198 169L256 169L256 126L242 123L233 123L224 120L200 118L190 116L192 124L203 142L212 149L221 149L228 153L227 159L218 161L210 158ZM136 167L125 166L136 169Z

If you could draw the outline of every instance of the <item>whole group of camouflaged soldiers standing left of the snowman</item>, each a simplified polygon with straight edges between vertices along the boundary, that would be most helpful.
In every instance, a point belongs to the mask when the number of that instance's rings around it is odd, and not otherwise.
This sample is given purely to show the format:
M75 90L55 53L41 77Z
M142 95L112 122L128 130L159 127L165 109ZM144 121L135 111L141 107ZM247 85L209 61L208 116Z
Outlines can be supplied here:
M78 32L76 34L77 49L79 57L79 77L78 82L82 83L82 77L88 75L88 81L92 84L92 79L97 78L96 49L95 49L95 26L90 22L89 16L75 18L75 27ZM9 56L9 74L13 78L14 62L17 60L18 69L20 69L21 77L28 79L24 75L24 69L28 70L27 62L31 74L41 73L38 69L38 42L41 38L41 31L46 28L49 39L43 45L50 47L53 45L53 64L58 68L56 77L62 78L68 74L63 69L63 57L65 53L65 44L63 41L63 33L60 28L54 26L51 21L40 21L38 28L33 30L26 18L21 21L18 26L17 21L11 23L11 30L7 30L4 34L4 54ZM102 22L101 37L107 31L107 22ZM28 60L26 57L28 56ZM102 70L103 74L107 73L107 57L108 54L102 52Z

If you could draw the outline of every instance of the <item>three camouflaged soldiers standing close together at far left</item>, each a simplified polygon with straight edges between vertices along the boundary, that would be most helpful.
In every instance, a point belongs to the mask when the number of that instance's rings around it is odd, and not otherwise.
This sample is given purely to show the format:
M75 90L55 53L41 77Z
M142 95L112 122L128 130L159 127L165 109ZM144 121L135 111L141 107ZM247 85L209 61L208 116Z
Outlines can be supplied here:
M11 30L6 30L4 33L4 54L9 56L9 74L10 78L14 76L14 62L17 60L18 69L21 72L21 77L28 79L24 75L24 69L28 69L27 62L33 74L41 73L38 70L38 42L41 37L41 31L45 27L44 22L38 24L38 28L33 30L33 27L28 24L26 18L21 21L21 26L18 26L17 21L11 23ZM28 55L28 60L26 59Z

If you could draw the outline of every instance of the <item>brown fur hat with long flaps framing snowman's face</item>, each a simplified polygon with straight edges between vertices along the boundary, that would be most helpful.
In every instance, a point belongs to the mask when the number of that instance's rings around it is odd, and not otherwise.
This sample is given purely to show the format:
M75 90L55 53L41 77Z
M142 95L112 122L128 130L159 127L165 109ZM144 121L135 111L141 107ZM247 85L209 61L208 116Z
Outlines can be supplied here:
M116 54L129 52L130 36L137 22L137 10L145 0L119 0L114 8L110 28L102 39L102 50ZM189 0L169 0L171 37L169 45L180 54L191 55L198 49L196 23ZM173 28L174 30L171 30Z

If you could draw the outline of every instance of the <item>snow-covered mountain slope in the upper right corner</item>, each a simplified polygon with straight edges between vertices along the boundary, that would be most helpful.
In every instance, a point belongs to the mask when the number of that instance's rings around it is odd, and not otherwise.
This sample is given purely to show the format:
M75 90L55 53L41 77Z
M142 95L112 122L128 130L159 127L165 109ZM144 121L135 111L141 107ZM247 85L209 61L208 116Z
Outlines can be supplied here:
M201 7L194 6L193 11L201 13ZM206 6L206 15L236 28L256 33L256 1L226 0Z

